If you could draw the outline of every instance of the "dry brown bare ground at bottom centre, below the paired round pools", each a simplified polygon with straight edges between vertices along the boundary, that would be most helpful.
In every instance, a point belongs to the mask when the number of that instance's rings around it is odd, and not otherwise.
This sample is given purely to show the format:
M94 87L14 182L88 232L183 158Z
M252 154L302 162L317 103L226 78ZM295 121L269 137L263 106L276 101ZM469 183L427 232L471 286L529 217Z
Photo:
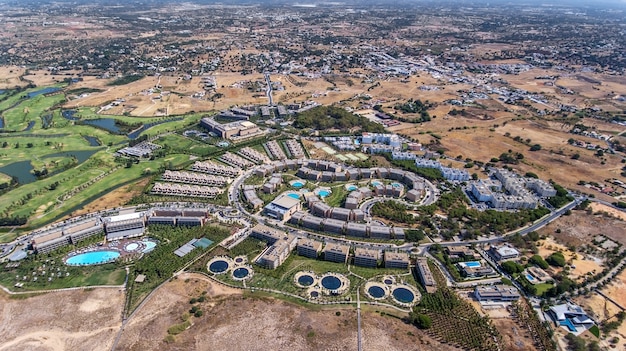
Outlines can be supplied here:
M167 328L180 323L189 299L206 290L204 316L166 343ZM339 311L340 316L335 313ZM366 350L454 350L410 325L373 312L363 313ZM411 334L409 334L411 332ZM353 308L311 310L271 298L244 297L216 287L199 275L166 284L129 322L120 350L356 350Z

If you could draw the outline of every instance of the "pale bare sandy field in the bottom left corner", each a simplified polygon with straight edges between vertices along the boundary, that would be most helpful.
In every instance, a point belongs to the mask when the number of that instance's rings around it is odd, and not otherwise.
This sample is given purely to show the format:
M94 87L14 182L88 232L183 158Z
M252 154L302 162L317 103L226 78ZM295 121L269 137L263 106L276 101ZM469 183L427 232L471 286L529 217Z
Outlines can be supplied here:
M0 350L108 350L121 326L123 292L94 289L26 300L0 295Z

